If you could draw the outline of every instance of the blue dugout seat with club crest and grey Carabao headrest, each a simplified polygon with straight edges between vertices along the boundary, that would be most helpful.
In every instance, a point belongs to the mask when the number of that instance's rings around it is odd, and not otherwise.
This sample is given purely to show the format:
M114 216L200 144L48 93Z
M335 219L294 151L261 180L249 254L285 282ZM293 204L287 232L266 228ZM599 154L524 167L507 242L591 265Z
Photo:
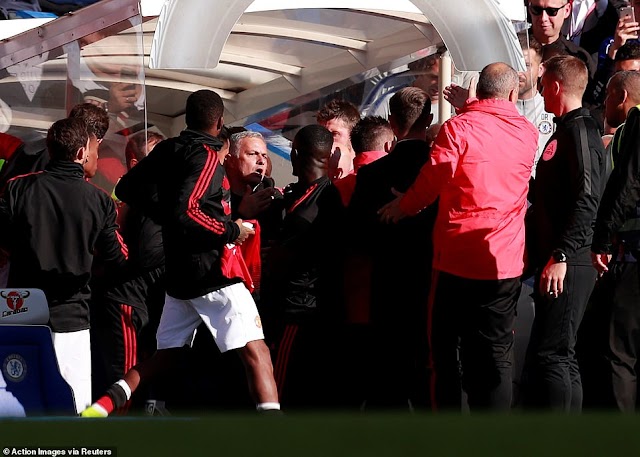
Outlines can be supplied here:
M58 369L48 321L42 290L0 289L2 377L27 416L75 416L73 390Z

